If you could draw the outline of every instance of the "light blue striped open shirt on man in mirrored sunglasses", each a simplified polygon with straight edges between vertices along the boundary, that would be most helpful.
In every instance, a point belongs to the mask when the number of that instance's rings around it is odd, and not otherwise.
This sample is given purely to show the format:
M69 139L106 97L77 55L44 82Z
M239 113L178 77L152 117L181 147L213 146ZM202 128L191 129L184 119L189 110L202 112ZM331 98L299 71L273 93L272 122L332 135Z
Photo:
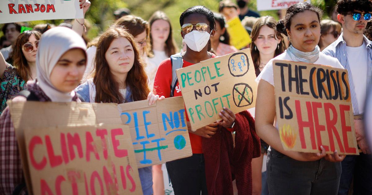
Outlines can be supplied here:
M367 68L367 81L366 81L366 93L359 94L359 95L366 95L368 91L371 89L372 85L372 41L368 40L366 36L363 35L363 41L366 43L366 50L368 54L368 68ZM354 68L352 65L349 64L347 60L347 53L346 53L346 41L343 39L343 33L339 36L339 38L331 43L327 48L322 51L325 55L332 56L337 58L341 65L344 66L345 69L349 72L349 84L350 84L350 93L351 93L351 101L353 104L353 113L354 116L363 114L363 111L359 110L358 103L357 103L357 96L355 94L354 86L357 84L353 83L353 76L357 77L357 75L352 75L351 69Z

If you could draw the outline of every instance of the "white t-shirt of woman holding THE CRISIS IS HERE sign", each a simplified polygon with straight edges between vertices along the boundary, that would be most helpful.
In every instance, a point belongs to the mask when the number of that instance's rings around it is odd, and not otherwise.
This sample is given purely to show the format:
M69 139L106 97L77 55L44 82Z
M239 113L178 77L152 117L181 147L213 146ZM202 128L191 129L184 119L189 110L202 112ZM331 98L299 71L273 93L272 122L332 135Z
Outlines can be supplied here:
M284 59L284 60L293 61L293 59L288 55L287 50L284 51L282 54L276 56L275 58L270 59L270 61L267 62L266 66L263 68L262 72L256 78L257 83L260 81L260 79L263 79L274 86L273 60L275 59L280 59L280 60ZM334 68L344 68L340 64L338 59L325 55L322 52L319 53L319 58L317 61L314 62L314 64L327 65L327 66L332 66Z

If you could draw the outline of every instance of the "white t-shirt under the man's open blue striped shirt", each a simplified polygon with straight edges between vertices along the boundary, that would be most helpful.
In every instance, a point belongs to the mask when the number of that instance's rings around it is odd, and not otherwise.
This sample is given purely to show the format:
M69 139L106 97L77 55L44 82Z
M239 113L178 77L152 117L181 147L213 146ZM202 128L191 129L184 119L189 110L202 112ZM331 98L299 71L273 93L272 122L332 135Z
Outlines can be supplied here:
M368 53L366 43L359 47L346 46L347 60L352 75L356 102L360 113L364 113L364 102L367 95Z

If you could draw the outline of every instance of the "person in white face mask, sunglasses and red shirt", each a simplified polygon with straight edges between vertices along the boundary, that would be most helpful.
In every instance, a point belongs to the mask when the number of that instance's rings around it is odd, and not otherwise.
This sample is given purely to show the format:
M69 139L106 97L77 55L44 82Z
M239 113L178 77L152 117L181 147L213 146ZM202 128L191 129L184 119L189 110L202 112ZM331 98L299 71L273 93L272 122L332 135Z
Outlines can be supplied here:
M186 43L186 51L177 55L179 56L177 57L177 61L182 61L182 67L192 66L200 61L216 57L213 53L208 52L209 39L212 36L215 36L215 19L211 10L204 6L194 6L186 9L180 16L180 26L181 36ZM159 65L154 81L154 91L158 95L164 95L165 97L182 96L178 81L175 81L175 86L171 87L173 80L172 66L174 65L172 63L175 63L173 57L172 60L171 58L168 58ZM239 131L239 133L237 133L238 135L244 134L247 135L247 137L250 137L251 142L257 138L256 143L259 143L259 138L255 132L254 135L248 135L246 133L246 131L251 129L249 126L251 123L248 122L247 119L248 116L250 116L248 111L245 111L243 114L238 113L235 116L230 109L224 107L224 109L218 114L222 118L221 121L208 124L200 129L196 129L195 131L192 131L186 114L193 155L166 163L169 178L173 185L174 194L207 195L208 193L233 193L230 162L233 162L234 160L230 158L229 162L227 152L231 151L228 150L230 145L223 142L223 138L231 140L231 149L233 148L231 131L235 131L235 129L236 131ZM253 121L253 117L250 116L250 118L251 121ZM244 125L245 128L243 128L242 125ZM255 138L252 138L254 136ZM221 143L219 143L218 146L212 147L211 143L213 144L216 140L221 140ZM244 140L244 142L237 142L235 148L243 144L251 144L250 146L254 145L253 143L247 142L249 141ZM224 149L220 147L221 145L224 146ZM252 191L252 183L250 182L250 160L255 147L244 148L249 151L242 151L244 155L241 156L239 160L246 159L247 161L241 163L238 169L240 175L244 174L244 178L247 179L244 180L244 182L239 183L240 185L238 185L238 189L239 187L244 186L246 193L242 192L242 194L250 194ZM259 146L257 146L257 150L259 151ZM214 155L211 155L211 153ZM208 155L208 157L205 157L205 155ZM217 160L213 160L216 156L221 156L218 162ZM257 152L257 156L259 156L259 152ZM215 177L212 175L215 175ZM222 192L221 189L226 191Z

